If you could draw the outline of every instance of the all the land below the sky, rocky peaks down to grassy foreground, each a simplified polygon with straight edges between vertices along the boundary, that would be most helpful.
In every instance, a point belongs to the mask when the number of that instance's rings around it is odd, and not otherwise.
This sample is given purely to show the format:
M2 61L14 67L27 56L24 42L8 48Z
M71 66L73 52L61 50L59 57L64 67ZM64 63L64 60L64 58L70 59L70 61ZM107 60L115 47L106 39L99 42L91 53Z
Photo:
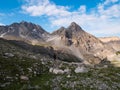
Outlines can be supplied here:
M52 34L14 23L0 37L0 90L120 89L119 41L115 49L74 22Z

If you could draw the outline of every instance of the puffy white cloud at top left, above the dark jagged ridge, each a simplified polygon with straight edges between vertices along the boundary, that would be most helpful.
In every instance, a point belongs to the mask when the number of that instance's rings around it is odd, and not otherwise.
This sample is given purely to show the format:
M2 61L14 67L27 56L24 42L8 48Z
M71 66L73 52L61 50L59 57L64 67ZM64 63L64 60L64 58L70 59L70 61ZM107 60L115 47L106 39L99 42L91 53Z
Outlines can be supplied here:
M70 14L67 10L68 7L57 6L49 0L36 0L35 2L34 0L27 0L27 2L29 2L29 4L22 6L22 9L32 16L67 16Z

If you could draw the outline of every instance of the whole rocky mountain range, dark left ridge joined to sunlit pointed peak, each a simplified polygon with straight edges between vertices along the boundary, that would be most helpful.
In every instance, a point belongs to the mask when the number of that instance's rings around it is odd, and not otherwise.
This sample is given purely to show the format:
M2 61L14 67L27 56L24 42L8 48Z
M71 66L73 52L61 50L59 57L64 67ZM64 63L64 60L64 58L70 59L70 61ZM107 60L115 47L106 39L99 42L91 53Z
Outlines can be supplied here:
M51 46L54 50L78 57L85 63L99 63L115 53L113 47L85 32L75 22L49 34L39 25L22 21L0 26L0 37L33 45Z

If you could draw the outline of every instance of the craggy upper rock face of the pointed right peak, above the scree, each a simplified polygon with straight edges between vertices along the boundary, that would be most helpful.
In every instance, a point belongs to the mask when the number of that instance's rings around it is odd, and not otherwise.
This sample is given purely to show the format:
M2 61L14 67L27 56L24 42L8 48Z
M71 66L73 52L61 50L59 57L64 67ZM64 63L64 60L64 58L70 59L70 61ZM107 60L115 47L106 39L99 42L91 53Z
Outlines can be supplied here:
M95 36L85 32L79 25L72 22L68 28L60 28L53 32L53 35L61 36L61 40L65 41L65 45L81 47L84 51L90 51L92 48L98 48L102 46L102 42ZM100 45L95 45L95 44Z

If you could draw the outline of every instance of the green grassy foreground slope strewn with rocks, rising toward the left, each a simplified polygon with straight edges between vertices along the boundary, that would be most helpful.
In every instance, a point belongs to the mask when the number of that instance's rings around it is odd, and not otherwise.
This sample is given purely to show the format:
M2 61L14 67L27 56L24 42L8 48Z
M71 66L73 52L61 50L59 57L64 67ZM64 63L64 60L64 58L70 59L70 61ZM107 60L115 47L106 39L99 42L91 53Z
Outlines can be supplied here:
M49 52L44 53L45 50L39 46L29 49L23 43L21 47L21 44L0 40L0 90L120 89L120 67L103 61L94 68L82 65L87 72L75 73L75 69L81 64L53 60L49 57ZM73 59L64 54L59 54L58 58L66 59L65 61ZM70 71L53 74L49 72L50 68Z

